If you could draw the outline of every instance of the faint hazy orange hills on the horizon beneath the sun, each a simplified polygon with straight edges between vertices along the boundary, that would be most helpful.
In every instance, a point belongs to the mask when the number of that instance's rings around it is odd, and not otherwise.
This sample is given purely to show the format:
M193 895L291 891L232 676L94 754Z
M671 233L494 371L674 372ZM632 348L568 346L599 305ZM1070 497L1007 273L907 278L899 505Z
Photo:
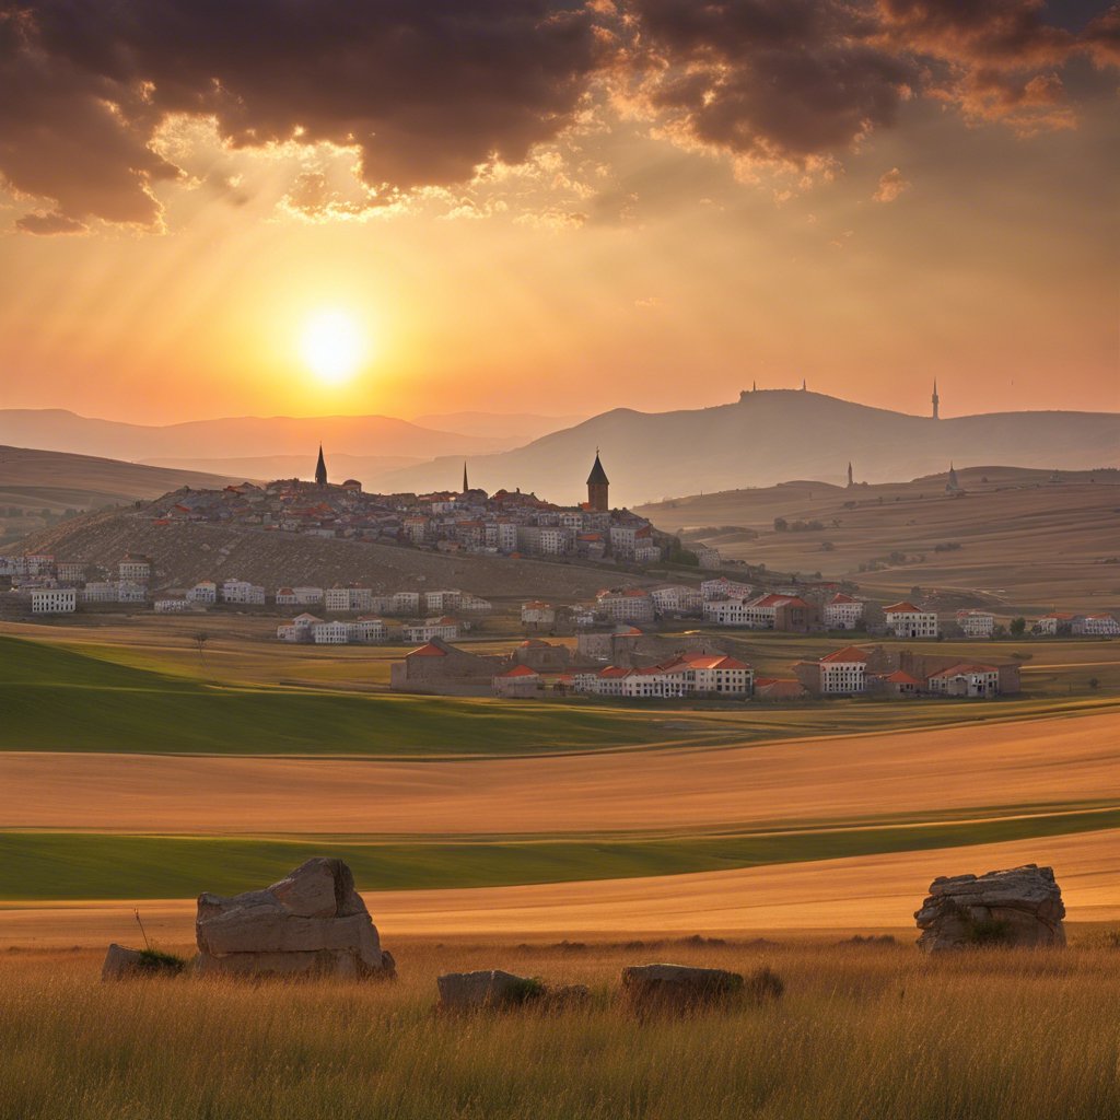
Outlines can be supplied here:
M224 417L172 424L133 424L81 417L65 409L0 409L0 444L115 459L200 459L292 455L310 474L321 442L332 455L477 455L508 440L437 431L393 417ZM332 474L335 474L333 470Z

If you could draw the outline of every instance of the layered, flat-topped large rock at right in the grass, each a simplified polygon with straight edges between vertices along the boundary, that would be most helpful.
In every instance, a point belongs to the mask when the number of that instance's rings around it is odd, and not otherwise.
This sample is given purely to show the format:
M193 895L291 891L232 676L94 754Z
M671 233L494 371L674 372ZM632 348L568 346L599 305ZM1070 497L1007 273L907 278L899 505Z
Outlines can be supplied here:
M1054 870L1027 864L987 875L941 876L914 917L931 953L983 945L1065 944L1065 906Z

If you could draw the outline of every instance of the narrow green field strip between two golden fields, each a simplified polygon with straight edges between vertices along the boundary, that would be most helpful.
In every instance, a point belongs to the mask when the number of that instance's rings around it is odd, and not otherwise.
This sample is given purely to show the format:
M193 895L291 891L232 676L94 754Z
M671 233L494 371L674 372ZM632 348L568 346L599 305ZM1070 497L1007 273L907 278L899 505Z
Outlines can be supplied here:
M726 871L767 864L1068 836L1120 827L1120 805L743 834L391 841L363 837L168 837L0 832L0 899L236 894L312 856L346 860L364 890L515 886Z

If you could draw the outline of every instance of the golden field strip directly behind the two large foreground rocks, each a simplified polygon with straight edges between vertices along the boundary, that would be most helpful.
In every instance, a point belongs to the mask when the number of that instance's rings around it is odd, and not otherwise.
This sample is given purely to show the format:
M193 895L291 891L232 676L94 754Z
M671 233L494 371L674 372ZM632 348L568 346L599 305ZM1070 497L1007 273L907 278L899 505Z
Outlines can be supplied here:
M1120 830L696 875L366 892L365 899L390 948L395 939L416 936L746 935L838 928L890 928L913 936L913 913L935 876L1027 862L1054 867L1071 920L1120 922ZM133 905L0 905L0 949L128 941L136 935ZM192 941L193 899L139 906L156 939Z

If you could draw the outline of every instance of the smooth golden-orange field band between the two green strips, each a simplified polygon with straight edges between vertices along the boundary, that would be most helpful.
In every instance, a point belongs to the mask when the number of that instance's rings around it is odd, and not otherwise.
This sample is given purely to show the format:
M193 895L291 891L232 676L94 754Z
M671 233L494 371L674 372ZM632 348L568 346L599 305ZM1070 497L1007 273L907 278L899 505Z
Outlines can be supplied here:
M8 828L503 834L1120 796L1114 712L641 755L356 762L0 754Z

